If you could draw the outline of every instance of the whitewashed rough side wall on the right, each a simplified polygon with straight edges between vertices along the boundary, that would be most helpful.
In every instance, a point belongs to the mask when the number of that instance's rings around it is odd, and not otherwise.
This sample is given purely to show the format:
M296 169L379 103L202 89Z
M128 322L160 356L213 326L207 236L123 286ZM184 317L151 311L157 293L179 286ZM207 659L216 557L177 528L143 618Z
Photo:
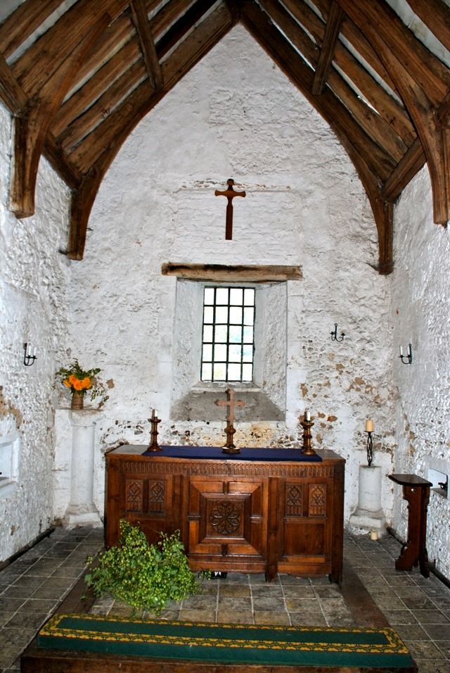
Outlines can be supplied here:
M428 470L450 474L449 230L432 221L432 196L425 167L404 190L394 213L395 267L392 278L396 472L428 479ZM402 365L411 342L413 362ZM406 503L394 486L394 527L406 539ZM432 491L428 555L450 577L450 500Z

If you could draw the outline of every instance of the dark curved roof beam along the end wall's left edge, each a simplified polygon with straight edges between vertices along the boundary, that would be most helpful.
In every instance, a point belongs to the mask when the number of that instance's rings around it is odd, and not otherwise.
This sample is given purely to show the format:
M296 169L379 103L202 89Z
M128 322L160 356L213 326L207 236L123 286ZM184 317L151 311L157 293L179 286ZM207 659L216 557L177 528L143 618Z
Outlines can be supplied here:
M165 92L172 89L212 47L224 37L233 26L229 11L219 6L184 42L162 63L165 91L148 96L148 86L141 84L134 92L98 127L92 134L91 143L98 151L95 163L86 175L79 189L72 195L70 213L70 233L68 257L80 260L84 255L86 231L98 187L105 172L120 150L123 142L136 124L160 101ZM180 63L183 65L180 68ZM106 128L105 128L106 126ZM101 137L106 136L100 142ZM101 149L103 148L103 149Z

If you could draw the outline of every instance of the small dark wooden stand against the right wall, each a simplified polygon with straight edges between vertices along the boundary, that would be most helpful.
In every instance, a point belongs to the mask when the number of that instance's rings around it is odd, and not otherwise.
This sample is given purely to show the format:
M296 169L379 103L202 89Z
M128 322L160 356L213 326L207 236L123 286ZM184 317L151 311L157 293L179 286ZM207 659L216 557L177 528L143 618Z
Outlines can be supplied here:
M390 474L392 482L403 486L404 500L408 501L408 539L395 562L397 570L412 570L419 565L423 577L430 577L427 553L427 508L431 482L416 474Z

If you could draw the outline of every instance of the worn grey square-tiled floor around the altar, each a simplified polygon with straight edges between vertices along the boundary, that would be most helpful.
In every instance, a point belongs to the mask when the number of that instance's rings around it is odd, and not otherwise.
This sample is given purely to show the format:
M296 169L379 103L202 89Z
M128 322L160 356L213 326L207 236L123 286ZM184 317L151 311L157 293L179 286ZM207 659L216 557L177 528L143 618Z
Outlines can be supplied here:
M98 529L56 529L0 571L0 673L20 669L20 653L82 574L86 555L98 551L102 543L103 532ZM450 589L433 575L425 579L416 570L397 572L394 560L399 551L399 543L390 536L380 541L366 536L345 539L346 562L409 645L420 673L450 673ZM349 593L348 583L340 591L326 578L281 575L266 584L261 575L229 573L226 579L207 581L199 596L169 605L164 616L256 624L368 625L370 606L359 606L364 615L361 622L346 598ZM129 606L107 597L94 609L130 614Z

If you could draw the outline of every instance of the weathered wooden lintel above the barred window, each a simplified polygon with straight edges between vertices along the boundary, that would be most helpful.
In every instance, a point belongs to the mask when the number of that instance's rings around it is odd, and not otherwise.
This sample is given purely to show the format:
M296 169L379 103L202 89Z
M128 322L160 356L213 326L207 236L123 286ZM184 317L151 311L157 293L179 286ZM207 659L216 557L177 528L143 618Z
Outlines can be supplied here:
M167 262L161 266L162 275L176 276L190 280L210 282L281 282L300 280L301 266L281 265L224 265L224 264L181 264Z

